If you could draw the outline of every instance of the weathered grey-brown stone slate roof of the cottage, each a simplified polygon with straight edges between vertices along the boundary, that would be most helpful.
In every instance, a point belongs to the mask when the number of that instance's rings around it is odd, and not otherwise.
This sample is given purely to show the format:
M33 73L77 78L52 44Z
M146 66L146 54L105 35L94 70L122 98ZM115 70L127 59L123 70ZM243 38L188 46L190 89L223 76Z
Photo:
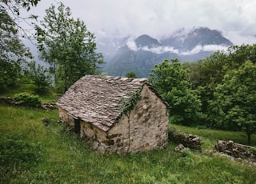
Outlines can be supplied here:
M75 118L107 131L122 115L121 98L138 91L146 78L86 75L58 99L57 105Z

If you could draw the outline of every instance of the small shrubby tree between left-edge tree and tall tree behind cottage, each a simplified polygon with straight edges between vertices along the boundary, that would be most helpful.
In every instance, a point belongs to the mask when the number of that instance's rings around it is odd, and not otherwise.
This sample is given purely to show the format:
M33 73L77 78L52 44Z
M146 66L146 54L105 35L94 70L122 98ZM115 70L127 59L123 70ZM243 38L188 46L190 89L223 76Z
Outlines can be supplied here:
M45 91L51 84L49 70L40 64L36 66L36 62L34 61L28 63L26 75L38 86L38 91Z

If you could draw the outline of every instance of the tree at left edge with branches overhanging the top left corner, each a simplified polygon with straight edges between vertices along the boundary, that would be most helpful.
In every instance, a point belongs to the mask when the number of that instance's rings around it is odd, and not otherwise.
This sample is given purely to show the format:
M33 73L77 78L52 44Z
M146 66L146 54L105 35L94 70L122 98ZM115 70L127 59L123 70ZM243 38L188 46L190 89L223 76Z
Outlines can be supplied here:
M30 50L19 38L18 15L21 8L30 10L36 0L0 1L0 87L14 86L21 76L22 64L32 58ZM15 18L15 22L14 21Z

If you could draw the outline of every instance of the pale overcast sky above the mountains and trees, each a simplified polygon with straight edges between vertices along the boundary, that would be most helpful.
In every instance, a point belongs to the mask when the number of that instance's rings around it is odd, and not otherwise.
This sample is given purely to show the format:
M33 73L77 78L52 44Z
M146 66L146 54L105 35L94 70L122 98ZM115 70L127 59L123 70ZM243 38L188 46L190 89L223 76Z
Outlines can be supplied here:
M30 13L44 16L50 4L41 0ZM62 0L74 18L96 37L104 34L149 34L161 38L178 28L207 26L221 30L234 44L256 43L256 0ZM58 6L58 5L57 5Z

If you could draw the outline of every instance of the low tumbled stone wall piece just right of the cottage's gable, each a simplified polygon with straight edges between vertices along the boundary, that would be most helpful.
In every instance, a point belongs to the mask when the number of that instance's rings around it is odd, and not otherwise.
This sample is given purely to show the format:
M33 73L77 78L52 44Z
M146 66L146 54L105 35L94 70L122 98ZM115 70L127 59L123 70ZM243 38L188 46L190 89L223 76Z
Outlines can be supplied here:
M179 146L175 149L176 151L182 150L185 147L188 147L192 150L201 150L201 141L197 135L183 134L177 129L171 128L169 130L168 136L170 141L179 144Z

